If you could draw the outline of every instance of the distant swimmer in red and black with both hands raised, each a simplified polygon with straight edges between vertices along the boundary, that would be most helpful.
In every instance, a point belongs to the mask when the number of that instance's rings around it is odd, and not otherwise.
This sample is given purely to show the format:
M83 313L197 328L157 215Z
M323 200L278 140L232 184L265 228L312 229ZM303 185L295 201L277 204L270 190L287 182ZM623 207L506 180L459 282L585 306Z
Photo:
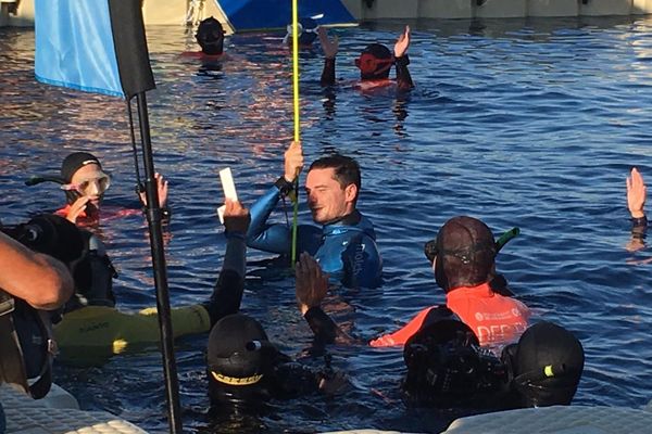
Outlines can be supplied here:
M337 55L339 41L336 37L333 41L328 39L328 33L325 28L319 27L319 42L324 50L324 71L322 72L322 86L334 86L335 77L335 56ZM410 90L414 88L408 65L408 48L410 47L410 26L405 26L405 30L393 47L393 55L391 51L381 43L368 44L355 60L355 66L360 69L359 87L363 90L368 90L378 87L393 85L394 81L389 79L389 71L392 65L397 66L396 86L400 90Z

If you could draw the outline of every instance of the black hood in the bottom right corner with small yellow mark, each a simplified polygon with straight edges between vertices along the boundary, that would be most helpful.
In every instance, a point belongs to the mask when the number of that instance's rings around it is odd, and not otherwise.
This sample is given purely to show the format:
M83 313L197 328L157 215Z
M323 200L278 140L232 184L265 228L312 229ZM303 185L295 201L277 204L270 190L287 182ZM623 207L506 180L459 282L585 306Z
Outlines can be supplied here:
M521 336L514 357L514 385L522 404L570 404L584 361L584 348L573 333L552 322L531 326Z

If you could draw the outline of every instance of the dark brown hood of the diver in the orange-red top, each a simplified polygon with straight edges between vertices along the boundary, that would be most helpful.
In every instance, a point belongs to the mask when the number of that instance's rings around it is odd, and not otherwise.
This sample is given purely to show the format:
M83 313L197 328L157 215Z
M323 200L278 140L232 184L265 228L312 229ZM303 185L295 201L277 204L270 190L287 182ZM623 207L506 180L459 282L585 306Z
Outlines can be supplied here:
M437 284L449 292L491 280L496 243L491 229L477 218L459 216L448 220L436 241Z

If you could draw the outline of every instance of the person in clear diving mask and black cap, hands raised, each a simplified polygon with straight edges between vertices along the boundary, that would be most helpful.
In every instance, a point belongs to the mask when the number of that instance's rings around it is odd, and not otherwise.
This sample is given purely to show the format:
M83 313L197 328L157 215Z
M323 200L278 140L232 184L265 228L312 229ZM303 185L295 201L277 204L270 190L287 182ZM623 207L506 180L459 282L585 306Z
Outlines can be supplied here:
M54 214L82 226L97 225L102 217L101 204L104 193L111 187L111 177L103 171L99 158L88 152L73 152L61 165L62 189L65 191L66 205ZM167 181L155 174L159 203L164 220L170 219L167 208ZM145 192L139 194L143 206L147 206ZM120 216L139 214L140 209L120 210Z

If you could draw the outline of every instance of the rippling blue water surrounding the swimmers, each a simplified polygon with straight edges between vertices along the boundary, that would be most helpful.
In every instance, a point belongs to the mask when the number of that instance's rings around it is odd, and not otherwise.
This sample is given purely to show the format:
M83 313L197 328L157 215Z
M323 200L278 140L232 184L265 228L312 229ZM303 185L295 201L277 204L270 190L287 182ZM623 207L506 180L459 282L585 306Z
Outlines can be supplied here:
M339 318L354 320L352 332L372 339L441 303L423 243L448 218L476 216L497 233L518 226L522 235L500 254L499 270L539 318L581 340L587 361L575 403L645 405L652 398L652 265L644 261L652 255L626 250L625 177L636 165L652 180L652 21L412 24L410 68L417 88L409 97L350 87L361 48L393 41L402 23L337 30L343 80L335 94L317 84L322 56L302 54L306 161L335 150L359 159L360 208L374 220L385 258L384 286L342 294L349 309ZM158 82L148 93L155 165L170 179L174 209L167 242L174 305L205 299L217 276L224 252L215 218L217 170L233 168L246 204L281 174L292 135L291 69L281 36L231 37L228 61L202 65L179 56L188 42L180 28L148 28ZM57 171L68 152L80 149L99 155L112 173L108 202L135 206L124 103L35 82L33 48L32 30L0 30L3 221L61 205L63 194L52 186L26 188L23 180ZM121 275L120 305L153 305L143 219L106 221L102 232ZM252 260L265 257L250 253ZM311 333L297 312L292 279L250 269L243 310L288 354L303 356ZM204 342L195 336L177 345L184 424L193 432L211 425ZM400 350L337 347L331 354L335 368L351 379L343 396L274 403L251 431L437 432L456 416L403 405ZM85 409L109 410L153 432L167 427L155 352L90 368L60 365L55 374ZM242 432L244 425L231 421L215 430Z

